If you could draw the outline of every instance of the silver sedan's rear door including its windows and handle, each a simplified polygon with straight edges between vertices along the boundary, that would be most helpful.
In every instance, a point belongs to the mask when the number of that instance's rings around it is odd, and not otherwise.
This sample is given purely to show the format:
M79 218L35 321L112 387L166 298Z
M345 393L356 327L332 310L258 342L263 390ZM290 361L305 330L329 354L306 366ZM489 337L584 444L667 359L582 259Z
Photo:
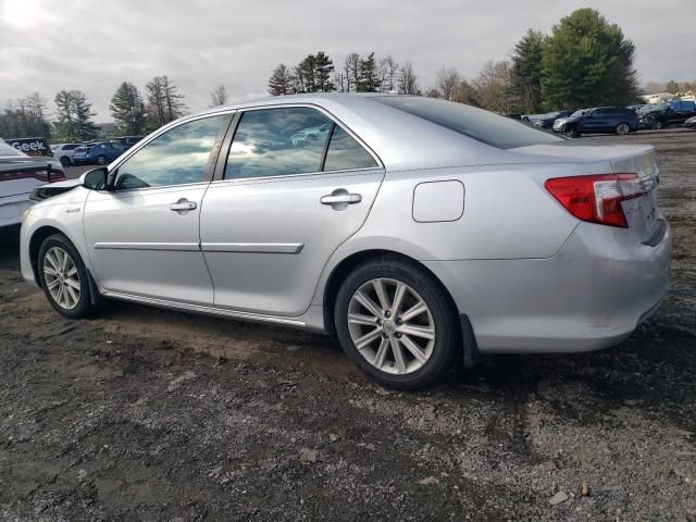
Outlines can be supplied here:
M308 107L245 112L225 157L201 213L215 306L300 315L331 254L364 223L384 169L355 135Z

